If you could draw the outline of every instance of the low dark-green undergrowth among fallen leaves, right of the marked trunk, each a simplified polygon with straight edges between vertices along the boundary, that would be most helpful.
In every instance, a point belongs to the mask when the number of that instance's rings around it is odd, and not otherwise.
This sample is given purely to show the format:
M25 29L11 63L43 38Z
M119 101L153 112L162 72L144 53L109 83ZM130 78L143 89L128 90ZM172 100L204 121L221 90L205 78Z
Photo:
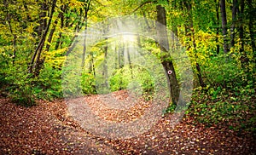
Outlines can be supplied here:
M197 89L193 100L188 113L200 123L209 126L212 123L227 124L234 130L255 130L256 107L252 104L255 92L252 87L236 87L233 91L217 87L207 92Z

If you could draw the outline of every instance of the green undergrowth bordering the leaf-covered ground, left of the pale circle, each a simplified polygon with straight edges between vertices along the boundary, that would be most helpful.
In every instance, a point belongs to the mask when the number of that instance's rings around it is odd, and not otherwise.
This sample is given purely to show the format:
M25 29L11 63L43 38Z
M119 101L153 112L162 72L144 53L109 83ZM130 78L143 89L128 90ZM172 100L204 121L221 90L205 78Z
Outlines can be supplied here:
M34 106L35 100L62 96L61 71L45 66L38 78L31 78L26 67L12 66L0 72L2 94L21 106Z

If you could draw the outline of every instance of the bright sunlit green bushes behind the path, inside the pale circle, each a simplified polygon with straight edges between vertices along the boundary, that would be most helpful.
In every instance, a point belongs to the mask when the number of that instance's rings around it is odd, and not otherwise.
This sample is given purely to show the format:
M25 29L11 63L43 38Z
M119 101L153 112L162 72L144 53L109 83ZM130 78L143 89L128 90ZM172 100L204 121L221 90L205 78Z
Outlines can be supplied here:
M128 89L136 95L150 98L150 95L154 93L154 79L142 67L127 65L113 71L107 79L100 72L96 72L96 78L91 72L83 72L81 88L84 94L108 94Z

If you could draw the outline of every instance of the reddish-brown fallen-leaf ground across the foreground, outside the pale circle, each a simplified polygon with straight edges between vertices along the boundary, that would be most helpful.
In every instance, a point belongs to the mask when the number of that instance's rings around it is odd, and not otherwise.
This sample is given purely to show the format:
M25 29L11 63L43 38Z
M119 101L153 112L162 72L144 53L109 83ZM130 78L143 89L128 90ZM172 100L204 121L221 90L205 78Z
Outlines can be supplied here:
M120 98L124 95L123 91L115 94ZM97 97L99 95L85 96L84 100L96 105ZM109 120L114 118L113 112L105 111L102 115ZM246 131L238 133L224 125L206 127L195 124L194 118L188 116L172 128L171 117L166 114L142 135L109 139L84 130L68 115L64 100L38 100L37 106L24 107L1 98L0 154L233 155L256 152L255 137Z

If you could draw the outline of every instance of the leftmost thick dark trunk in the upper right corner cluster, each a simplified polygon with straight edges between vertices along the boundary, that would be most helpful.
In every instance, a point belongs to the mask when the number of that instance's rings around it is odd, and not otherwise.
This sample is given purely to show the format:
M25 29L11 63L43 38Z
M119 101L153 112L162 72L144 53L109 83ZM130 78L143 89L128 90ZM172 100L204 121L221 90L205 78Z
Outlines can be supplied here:
M222 18L222 34L224 37L224 54L227 54L229 52L228 47L228 32L227 32L227 15L226 15L226 4L225 0L220 0L220 12L221 12L221 18Z

